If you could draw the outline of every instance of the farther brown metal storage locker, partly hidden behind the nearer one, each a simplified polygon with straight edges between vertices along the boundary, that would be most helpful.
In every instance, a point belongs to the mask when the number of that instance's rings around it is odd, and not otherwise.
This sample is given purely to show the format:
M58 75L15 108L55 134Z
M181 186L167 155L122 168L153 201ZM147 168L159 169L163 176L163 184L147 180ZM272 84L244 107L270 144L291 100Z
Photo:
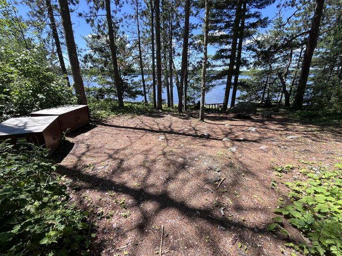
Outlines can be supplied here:
M59 116L63 132L72 132L90 121L87 105L65 105L42 109L30 114L31 117Z

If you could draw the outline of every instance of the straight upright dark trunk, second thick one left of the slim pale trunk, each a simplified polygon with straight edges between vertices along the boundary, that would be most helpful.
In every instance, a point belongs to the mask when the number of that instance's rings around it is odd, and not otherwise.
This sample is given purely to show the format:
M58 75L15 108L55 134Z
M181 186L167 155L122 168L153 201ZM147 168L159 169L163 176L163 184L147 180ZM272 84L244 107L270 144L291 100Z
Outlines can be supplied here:
M159 0L154 1L154 9L155 9L155 37L157 44L157 109L163 109L162 102L162 60L160 54L160 13L159 13Z

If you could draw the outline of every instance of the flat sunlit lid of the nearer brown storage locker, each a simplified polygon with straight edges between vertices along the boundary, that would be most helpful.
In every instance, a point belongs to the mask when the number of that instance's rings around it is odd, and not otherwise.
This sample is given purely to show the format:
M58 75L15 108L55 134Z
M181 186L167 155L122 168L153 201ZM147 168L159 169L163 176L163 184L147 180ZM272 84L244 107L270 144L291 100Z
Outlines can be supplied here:
M43 132L58 116L10 118L0 123L0 136Z

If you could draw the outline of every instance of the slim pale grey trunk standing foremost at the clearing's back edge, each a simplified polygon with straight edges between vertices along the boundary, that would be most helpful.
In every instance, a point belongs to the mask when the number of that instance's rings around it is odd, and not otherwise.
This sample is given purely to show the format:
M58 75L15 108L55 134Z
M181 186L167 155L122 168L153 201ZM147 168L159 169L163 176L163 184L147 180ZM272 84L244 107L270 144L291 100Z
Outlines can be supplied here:
M205 0L205 15L204 15L204 41L203 41L203 66L201 74L201 102L199 107L199 120L204 121L204 104L206 91L206 72L208 61L208 34L209 34L209 6Z

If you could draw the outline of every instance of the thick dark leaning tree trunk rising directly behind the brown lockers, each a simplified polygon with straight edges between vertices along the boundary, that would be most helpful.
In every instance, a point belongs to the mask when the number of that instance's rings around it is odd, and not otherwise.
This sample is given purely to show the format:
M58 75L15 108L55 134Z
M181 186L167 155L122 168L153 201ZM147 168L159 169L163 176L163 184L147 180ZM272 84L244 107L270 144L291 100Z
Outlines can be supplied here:
M61 19L64 28L64 36L66 48L68 51L69 62L71 66L72 76L74 78L74 87L79 104L86 105L85 87L81 76L80 62L77 56L74 32L72 31L69 5L67 0L59 0Z

